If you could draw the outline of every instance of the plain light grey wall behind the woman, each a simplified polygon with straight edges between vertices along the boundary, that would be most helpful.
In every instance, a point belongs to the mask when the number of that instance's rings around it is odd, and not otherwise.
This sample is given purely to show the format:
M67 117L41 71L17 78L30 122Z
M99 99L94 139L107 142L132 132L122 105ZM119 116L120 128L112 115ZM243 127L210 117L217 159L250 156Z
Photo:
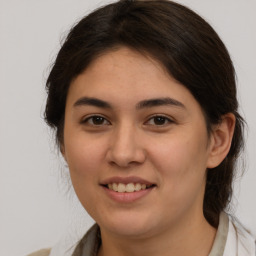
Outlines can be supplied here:
M43 122L44 83L66 31L107 2L0 0L0 255L51 246L62 234L79 235L92 223L67 191L67 170ZM256 1L178 2L213 25L234 61L249 127L247 171L235 186L235 214L255 232Z

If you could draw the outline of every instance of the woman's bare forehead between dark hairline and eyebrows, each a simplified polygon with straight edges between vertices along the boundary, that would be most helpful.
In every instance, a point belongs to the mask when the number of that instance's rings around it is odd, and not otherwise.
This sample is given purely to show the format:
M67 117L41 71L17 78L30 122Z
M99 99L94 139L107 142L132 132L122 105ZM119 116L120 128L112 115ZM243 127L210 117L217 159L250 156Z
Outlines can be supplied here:
M99 56L74 79L68 99L74 101L83 96L122 105L165 97L197 104L189 90L159 62L125 47Z

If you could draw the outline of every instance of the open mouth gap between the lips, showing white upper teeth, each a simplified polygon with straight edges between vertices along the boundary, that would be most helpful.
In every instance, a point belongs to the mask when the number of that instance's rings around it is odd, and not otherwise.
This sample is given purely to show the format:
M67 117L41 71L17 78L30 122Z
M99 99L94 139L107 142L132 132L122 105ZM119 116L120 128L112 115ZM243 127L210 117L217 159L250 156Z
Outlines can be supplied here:
M108 183L102 185L109 190L115 191L117 193L133 193L142 190L147 190L155 187L155 184L144 184L144 183Z

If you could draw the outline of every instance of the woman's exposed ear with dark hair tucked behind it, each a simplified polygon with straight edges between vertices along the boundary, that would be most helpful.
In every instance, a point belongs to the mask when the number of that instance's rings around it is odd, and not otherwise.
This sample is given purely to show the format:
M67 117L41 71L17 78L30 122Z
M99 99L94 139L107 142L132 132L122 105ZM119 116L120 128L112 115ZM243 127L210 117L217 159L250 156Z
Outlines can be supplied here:
M235 129L234 114L224 115L221 122L213 128L211 134L210 153L207 161L208 168L217 167L227 156Z

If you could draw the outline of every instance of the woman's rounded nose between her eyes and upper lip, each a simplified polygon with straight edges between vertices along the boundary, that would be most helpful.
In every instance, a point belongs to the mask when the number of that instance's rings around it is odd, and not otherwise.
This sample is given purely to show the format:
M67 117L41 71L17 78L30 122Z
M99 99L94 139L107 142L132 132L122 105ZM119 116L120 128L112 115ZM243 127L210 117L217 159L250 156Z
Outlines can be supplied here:
M116 128L109 145L107 160L112 165L127 168L140 165L146 159L141 138L132 125L123 124Z

